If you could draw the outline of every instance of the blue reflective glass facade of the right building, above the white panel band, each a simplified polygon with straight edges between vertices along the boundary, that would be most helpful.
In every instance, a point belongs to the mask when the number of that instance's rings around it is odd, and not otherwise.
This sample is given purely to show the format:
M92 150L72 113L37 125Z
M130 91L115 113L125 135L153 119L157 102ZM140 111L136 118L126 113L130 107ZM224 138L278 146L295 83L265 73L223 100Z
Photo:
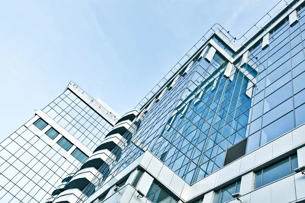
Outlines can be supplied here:
M146 104L149 110L143 108L127 132L131 142L116 161L99 171L107 170L111 177L118 174L144 152L135 144L140 142L193 184L223 167L231 146L246 141L247 154L303 124L303 8L298 15L293 25L287 16L270 31L269 46L262 49L260 39L246 58L235 58L229 76L229 61L218 50L211 61L204 58L207 54L194 55L188 73L181 72L172 86L169 82L161 98ZM235 56L218 38L211 39ZM95 180L98 188L104 180Z

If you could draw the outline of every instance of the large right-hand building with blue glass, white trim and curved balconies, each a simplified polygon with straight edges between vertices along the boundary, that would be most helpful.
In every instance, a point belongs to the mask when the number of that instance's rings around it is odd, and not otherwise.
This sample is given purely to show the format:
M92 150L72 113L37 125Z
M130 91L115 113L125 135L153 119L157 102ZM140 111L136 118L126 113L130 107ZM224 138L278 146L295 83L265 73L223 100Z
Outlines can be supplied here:
M305 202L304 16L212 26L45 202Z

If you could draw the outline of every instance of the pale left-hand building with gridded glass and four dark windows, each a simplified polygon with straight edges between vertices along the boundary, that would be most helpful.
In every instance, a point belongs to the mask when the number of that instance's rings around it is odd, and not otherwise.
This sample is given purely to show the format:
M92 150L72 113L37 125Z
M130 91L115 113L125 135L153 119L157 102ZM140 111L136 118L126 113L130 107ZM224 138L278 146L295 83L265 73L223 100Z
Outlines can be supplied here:
M0 202L48 201L118 119L101 99L71 82L0 144Z

